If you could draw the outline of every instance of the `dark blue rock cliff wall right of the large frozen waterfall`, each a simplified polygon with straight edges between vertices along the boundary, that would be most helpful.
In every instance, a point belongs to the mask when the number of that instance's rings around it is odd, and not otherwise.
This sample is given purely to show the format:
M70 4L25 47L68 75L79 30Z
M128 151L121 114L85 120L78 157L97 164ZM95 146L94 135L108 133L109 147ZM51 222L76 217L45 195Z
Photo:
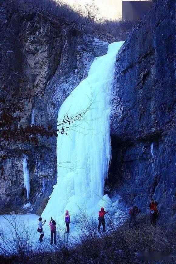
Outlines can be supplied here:
M175 195L174 1L157 1L116 61L111 173L128 173L143 212L150 197L168 212Z

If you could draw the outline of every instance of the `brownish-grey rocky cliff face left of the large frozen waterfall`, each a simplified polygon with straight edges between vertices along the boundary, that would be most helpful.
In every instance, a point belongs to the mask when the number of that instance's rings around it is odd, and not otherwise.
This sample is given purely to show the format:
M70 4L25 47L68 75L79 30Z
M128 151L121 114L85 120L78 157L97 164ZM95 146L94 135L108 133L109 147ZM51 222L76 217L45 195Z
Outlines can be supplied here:
M45 91L44 96L33 96L32 103L26 101L21 123L56 126L62 102L86 78L93 59L106 54L108 43L117 39L109 34L99 33L99 39L86 35L76 23L64 22L39 10L25 11L15 1L3 2L1 14L2 84L12 82L24 91ZM37 147L23 144L18 148L31 151L29 201L35 204L32 212L40 214L56 184L56 138L40 138ZM3 163L2 212L18 212L27 202L20 156Z

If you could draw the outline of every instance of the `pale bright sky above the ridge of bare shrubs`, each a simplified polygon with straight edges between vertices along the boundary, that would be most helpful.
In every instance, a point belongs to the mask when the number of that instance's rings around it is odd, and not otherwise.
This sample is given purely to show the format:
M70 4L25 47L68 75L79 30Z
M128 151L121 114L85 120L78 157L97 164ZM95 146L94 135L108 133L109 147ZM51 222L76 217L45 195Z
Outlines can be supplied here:
M92 0L63 0L71 6L83 7L92 4ZM94 4L99 8L100 18L119 19L122 16L122 0L94 0Z

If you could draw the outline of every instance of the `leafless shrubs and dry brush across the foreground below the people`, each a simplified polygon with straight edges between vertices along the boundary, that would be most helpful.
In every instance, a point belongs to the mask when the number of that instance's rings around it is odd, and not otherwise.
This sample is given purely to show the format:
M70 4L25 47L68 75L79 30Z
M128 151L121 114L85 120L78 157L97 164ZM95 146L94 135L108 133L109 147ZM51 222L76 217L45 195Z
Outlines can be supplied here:
M97 232L97 222L93 217L88 217L86 210L81 210L78 216L74 223L80 229L76 244L71 244L71 234L65 234L64 230L59 229L56 246L50 246L49 241L46 241L44 244L38 243L39 246L35 245L35 249L29 230L21 234L16 228L18 222L15 218L16 224L10 224L14 233L11 234L12 238L7 240L1 232L1 252L2 241L14 242L4 251L6 257L1 258L10 260L10 263L90 263L97 260L102 263L140 263L139 252L172 252L174 255L174 229L168 230L165 225L153 227L146 215L140 216L137 228L129 228L127 222L116 226L111 217L111 231L103 234ZM2 263L5 263L3 260Z

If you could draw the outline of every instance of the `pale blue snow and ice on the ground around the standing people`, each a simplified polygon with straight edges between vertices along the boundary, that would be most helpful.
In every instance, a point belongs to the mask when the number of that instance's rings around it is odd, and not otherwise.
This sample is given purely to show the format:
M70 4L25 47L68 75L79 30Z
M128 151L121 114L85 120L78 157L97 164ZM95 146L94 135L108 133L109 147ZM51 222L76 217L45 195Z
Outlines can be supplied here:
M108 195L105 195L103 197L104 203L109 203L110 198ZM114 198L113 198L114 200ZM103 201L102 201L103 205ZM127 208L125 208L121 203L119 203L118 200L114 200L111 205L108 207L109 214L105 215L105 223L106 223L106 230L107 233L110 233L112 231L111 227L111 221L113 221L113 226L117 227L120 224L122 224L127 219ZM80 215L80 218L82 215ZM57 250L54 246L50 246L50 226L49 222L46 222L43 226L44 230L44 242L39 242L39 236L40 233L37 232L37 222L38 222L39 216L35 214L18 214L18 215L0 215L0 254L5 253L3 249L7 250L7 254L13 254L17 253L17 248L15 245L17 245L18 236L20 239L20 245L23 244L23 239L25 241L26 236L28 234L29 236L29 245L32 245L33 250L35 251L45 251L45 250ZM88 218L89 219L89 218ZM98 211L96 212L96 215L94 217L91 216L91 219L95 219L97 229L98 227ZM42 220L45 220L44 218ZM91 223L91 220L90 220ZM64 228L63 228L64 227ZM60 235L61 237L68 236L69 243L79 242L79 232L76 223L71 220L70 224L70 233L67 235L65 234L66 226L65 221L63 219L63 223L61 223L61 226L58 224L56 225L57 228L57 235ZM102 231L102 226L101 226ZM101 232L97 235L101 236ZM4 237L4 241L6 243L3 243L2 237ZM23 244L25 245L25 243ZM29 248L30 249L30 248Z

